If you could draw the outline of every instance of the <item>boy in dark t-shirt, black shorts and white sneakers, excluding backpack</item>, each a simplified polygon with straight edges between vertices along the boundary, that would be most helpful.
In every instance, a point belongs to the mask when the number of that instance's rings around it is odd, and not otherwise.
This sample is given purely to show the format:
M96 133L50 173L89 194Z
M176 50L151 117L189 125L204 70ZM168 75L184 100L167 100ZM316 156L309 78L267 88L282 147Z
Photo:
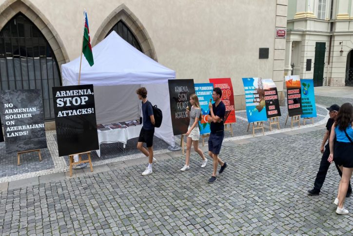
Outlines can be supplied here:
M152 104L147 100L147 90L145 87L140 87L136 90L138 99L142 101L142 128L138 137L137 149L143 154L148 156L148 166L142 175L148 175L152 173L152 163L156 162L156 158L153 157L153 135L155 134L155 117L153 116ZM143 147L143 143L146 143L146 147Z

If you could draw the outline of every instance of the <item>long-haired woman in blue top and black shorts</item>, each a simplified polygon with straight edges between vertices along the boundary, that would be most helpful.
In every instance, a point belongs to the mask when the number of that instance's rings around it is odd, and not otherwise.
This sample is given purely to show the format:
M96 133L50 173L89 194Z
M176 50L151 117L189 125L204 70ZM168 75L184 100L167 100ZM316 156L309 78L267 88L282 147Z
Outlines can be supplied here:
M345 103L339 109L336 122L332 126L330 135L330 156L328 161L333 160L342 171L342 178L339 182L337 198L334 204L337 205L336 213L348 215L348 210L343 207L353 172L353 106ZM336 138L336 142L334 139ZM334 145L334 148L333 148Z

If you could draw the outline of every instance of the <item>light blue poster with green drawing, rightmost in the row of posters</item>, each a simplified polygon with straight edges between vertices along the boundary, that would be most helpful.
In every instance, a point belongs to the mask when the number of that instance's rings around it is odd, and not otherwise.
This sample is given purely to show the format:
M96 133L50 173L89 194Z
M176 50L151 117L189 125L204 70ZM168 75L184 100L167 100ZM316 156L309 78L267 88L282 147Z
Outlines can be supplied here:
M300 79L301 104L303 107L302 118L316 117L314 81L313 79Z

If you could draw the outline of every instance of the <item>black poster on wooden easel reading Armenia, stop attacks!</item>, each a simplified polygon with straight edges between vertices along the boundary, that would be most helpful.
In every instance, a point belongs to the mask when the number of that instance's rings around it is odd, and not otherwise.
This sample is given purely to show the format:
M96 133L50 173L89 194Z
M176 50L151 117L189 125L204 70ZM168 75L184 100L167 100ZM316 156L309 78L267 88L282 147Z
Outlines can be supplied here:
M93 85L53 87L59 156L98 150Z

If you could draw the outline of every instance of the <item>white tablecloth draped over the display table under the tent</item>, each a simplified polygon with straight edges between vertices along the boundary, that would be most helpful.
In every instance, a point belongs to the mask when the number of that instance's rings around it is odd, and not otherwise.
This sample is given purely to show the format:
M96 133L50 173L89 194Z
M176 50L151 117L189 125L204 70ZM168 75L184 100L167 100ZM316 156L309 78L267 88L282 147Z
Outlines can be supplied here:
M98 129L99 149L96 150L97 155L100 157L100 144L102 143L122 143L125 148L127 140L137 138L140 135L141 128L142 125L131 126L125 129L109 129L104 131Z

